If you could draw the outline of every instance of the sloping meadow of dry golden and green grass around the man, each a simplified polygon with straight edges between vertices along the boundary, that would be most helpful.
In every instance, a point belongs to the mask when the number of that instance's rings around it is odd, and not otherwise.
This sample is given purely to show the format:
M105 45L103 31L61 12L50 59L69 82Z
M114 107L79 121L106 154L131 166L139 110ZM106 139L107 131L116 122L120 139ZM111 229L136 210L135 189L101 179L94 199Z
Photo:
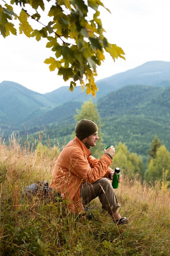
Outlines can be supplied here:
M11 137L0 143L0 252L2 256L169 256L170 188L166 180L155 184L124 179L116 190L121 216L127 225L117 226L99 201L91 203L94 220L74 215L66 202L40 195L22 196L23 189L38 180L51 179L60 150L35 150Z

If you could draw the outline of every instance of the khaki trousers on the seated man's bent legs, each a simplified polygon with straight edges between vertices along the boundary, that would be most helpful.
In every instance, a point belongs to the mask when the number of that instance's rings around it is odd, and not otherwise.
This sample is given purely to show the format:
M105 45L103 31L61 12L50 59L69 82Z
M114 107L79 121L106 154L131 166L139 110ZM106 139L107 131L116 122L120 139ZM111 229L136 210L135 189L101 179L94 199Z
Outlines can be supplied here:
M81 187L80 195L84 207L98 196L102 208L108 211L110 216L113 216L113 213L120 207L112 184L107 178L101 178L93 184L84 182Z

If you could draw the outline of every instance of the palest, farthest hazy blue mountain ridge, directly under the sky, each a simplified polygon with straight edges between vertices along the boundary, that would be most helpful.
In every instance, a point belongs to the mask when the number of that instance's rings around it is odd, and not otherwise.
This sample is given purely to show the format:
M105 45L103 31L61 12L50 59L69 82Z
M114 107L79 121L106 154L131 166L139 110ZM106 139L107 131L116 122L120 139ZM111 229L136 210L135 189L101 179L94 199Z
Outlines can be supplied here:
M44 97L53 104L60 105L66 101L94 101L104 97L106 94L118 90L126 85L151 85L166 87L170 85L170 62L149 61L131 70L115 74L96 82L99 91L94 99L91 95L82 93L81 87L74 88L73 93L68 86L62 86L53 92L44 94Z

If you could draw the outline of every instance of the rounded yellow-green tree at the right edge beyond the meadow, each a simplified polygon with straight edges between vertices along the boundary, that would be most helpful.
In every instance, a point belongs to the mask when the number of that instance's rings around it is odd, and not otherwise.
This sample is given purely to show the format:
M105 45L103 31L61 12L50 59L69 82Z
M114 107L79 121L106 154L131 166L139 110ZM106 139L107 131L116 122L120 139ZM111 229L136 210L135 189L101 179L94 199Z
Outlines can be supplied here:
M162 145L157 149L156 157L150 159L145 172L145 179L147 182L162 179L164 171L166 171L167 175L170 174L170 153Z

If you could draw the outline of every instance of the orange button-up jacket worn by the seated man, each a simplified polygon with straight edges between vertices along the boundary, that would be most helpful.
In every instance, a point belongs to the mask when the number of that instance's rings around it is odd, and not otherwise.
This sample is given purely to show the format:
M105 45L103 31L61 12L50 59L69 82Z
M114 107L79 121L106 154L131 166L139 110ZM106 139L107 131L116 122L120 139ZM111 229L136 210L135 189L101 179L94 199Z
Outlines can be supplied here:
M108 177L113 171L109 167L111 163L112 159L106 154L101 159L94 158L84 143L75 137L60 153L49 186L69 200L71 211L84 211L80 197L82 183L94 183Z

